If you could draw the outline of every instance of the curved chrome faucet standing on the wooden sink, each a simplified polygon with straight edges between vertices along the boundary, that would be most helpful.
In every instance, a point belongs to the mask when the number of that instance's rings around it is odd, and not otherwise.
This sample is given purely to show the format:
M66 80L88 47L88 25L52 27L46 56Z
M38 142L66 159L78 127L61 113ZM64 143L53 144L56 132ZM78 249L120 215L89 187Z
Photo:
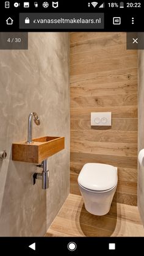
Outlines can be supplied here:
M37 113L31 112L28 119L28 135L27 143L32 143L32 117L34 117L34 122L36 125L40 125L40 119L38 118Z

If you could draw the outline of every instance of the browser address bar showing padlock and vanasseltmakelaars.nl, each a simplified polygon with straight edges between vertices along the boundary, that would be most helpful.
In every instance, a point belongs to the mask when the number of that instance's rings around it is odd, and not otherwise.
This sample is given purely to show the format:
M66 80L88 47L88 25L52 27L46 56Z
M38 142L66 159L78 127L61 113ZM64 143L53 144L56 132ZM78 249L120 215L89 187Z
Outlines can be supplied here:
M20 29L104 29L104 13L20 13Z

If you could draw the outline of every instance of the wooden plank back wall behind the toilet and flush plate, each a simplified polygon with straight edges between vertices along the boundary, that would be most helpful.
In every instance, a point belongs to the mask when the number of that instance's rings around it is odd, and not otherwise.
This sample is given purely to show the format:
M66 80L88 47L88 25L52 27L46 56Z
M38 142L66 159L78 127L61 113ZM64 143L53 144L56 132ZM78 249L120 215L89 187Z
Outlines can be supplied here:
M118 167L115 202L137 205L137 51L126 33L71 33L71 189L85 163ZM112 111L112 127L90 113Z

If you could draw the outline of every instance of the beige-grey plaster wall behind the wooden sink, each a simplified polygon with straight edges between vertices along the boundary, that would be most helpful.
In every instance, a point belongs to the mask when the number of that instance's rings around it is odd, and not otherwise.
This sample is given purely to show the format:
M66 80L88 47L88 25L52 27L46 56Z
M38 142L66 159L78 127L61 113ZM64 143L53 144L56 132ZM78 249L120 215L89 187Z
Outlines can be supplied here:
M43 236L69 193L68 33L29 33L29 50L0 51L0 109L0 236ZM34 164L12 161L32 111L41 121L33 137L65 136L65 150L48 159L47 191L32 185Z

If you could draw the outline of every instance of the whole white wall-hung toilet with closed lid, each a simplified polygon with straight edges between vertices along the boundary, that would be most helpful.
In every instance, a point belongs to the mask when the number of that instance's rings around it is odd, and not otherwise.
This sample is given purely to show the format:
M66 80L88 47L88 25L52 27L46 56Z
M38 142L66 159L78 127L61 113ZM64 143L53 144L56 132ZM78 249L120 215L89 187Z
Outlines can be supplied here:
M86 210L94 215L107 214L117 182L117 167L109 164L85 164L79 174L78 183Z

